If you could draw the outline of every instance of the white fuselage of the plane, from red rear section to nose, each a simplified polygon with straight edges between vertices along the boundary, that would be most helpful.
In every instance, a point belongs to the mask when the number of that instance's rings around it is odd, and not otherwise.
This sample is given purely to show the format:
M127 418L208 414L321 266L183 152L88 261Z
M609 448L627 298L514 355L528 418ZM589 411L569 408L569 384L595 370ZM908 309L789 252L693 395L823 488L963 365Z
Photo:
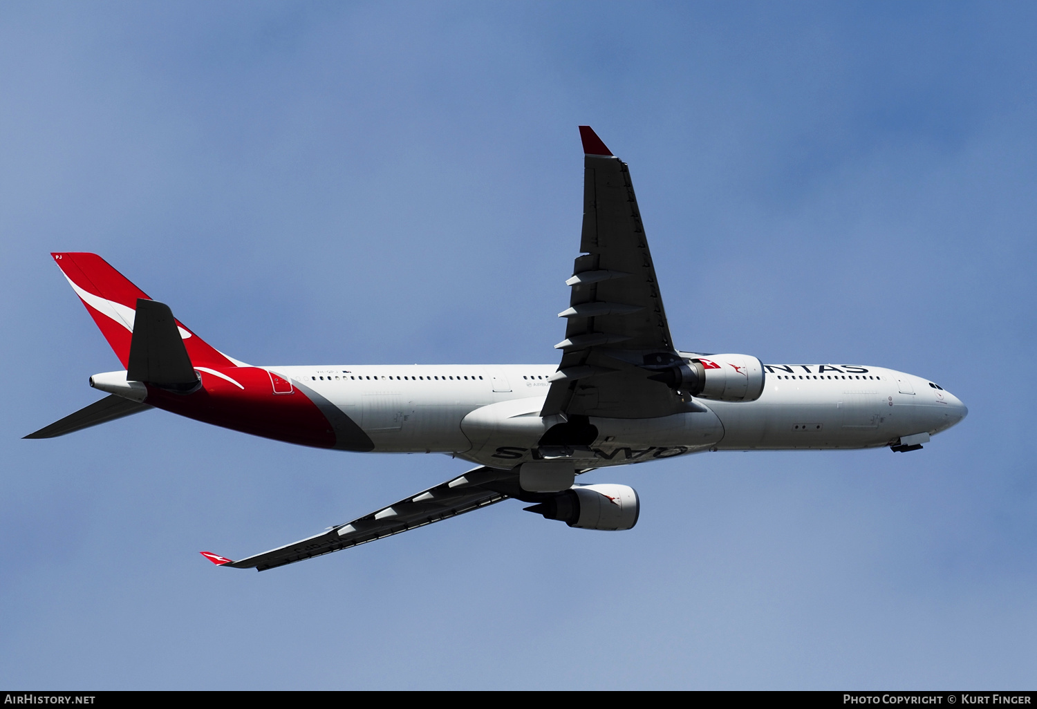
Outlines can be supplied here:
M558 420L540 408L557 365L270 367L328 399L360 425L374 452L450 453L513 467L538 457ZM968 409L950 392L880 367L765 365L751 402L696 399L698 410L656 419L598 419L574 452L586 467L702 450L853 449L934 434Z

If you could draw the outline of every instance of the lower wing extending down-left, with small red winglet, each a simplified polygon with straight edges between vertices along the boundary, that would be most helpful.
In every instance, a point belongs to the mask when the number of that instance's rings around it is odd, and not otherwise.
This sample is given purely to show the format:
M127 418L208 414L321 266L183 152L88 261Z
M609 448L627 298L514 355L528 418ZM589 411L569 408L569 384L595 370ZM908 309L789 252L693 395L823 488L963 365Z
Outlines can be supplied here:
M333 527L324 534L241 561L230 561L211 551L202 551L201 555L219 566L264 571L275 566L347 549L499 503L510 497L506 494L508 489L517 488L517 473L476 467L458 478L429 487L346 524Z

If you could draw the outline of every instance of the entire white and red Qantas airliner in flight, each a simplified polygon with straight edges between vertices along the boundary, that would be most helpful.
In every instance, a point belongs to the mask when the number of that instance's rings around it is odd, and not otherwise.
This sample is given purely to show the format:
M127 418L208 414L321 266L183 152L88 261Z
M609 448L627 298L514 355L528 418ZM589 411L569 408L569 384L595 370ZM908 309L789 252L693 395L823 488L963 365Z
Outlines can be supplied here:
M339 451L446 453L476 467L344 524L239 561L262 571L508 499L589 530L638 521L634 488L581 484L600 467L702 451L917 451L968 408L923 377L856 364L765 365L677 349L630 173L587 125L584 217L560 362L543 365L253 366L224 354L96 254L53 253L124 369L106 398L26 438L155 407Z

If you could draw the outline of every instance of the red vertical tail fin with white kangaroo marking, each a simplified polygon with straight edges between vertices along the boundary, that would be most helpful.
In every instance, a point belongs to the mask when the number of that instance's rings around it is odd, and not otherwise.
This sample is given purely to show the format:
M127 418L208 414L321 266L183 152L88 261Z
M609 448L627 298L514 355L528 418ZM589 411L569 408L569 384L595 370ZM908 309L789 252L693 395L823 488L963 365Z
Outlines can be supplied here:
M60 253L51 256L83 301L119 362L129 367L137 299L151 299L96 254ZM176 325L180 329L184 346L194 366L234 367L239 364L185 328L179 320Z

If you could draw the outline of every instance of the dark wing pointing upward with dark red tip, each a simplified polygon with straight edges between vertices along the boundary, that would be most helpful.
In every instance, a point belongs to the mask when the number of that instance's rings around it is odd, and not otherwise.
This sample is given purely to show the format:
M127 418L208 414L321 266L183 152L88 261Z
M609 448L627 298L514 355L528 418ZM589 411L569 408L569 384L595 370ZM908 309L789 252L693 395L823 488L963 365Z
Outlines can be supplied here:
M655 278L626 164L587 125L584 144L582 256L576 259L565 339L541 416L613 418L680 410L675 393L642 369L679 358ZM662 358L662 359L660 359Z

